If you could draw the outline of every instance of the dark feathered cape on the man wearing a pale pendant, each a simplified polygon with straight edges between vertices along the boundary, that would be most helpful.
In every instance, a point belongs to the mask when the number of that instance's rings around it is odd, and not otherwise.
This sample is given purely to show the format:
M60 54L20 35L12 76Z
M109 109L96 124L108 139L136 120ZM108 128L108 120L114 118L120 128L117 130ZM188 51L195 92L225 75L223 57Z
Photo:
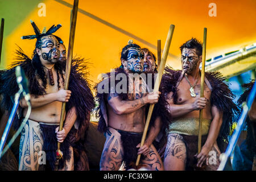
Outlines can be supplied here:
M173 92L174 103L177 103L177 88L176 84L181 75L181 71L175 71L171 67L164 69L164 75L160 85L160 102L167 105L166 96L168 93ZM230 133L231 126L236 121L237 114L239 113L238 107L234 104L234 94L229 89L225 82L225 77L222 77L220 72L205 72L210 85L212 86L212 94L210 96L210 102L216 106L220 111L223 111L223 121L220 129L219 139L228 141L228 135ZM169 121L164 121L165 125L168 125Z

